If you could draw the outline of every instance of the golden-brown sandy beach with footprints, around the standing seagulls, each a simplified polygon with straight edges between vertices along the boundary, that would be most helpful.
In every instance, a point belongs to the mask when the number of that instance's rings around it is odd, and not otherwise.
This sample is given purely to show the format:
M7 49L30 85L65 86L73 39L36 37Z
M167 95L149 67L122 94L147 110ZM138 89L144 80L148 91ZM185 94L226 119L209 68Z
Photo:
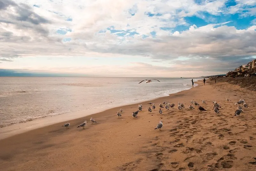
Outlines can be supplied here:
M124 106L121 119L113 108L94 114L98 122L76 128L91 116L46 126L0 141L0 170L86 171L217 171L256 170L255 92L228 83L202 85L168 97L152 100L156 111L148 114L147 102L138 118L138 104ZM224 97L229 97L227 102ZM190 100L206 110L189 110ZM245 99L249 108L234 116L234 103ZM206 100L207 104L202 104ZM212 100L221 105L220 115ZM158 104L169 101L174 109L158 114ZM177 102L186 108L178 111ZM164 121L161 131L154 130Z

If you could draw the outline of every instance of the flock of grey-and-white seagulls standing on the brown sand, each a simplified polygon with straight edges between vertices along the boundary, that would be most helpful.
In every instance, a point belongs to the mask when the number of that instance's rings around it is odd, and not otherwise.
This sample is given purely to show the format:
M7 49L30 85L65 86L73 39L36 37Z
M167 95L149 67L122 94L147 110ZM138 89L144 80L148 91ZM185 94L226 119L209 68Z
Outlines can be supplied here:
M228 98L226 98L226 101L231 101L231 100L229 100ZM190 110L194 110L194 109L195 109L195 108L193 107L193 104L194 104L195 106L198 106L198 110L200 111L200 113L201 113L202 111L207 111L207 110L204 109L202 106L200 106L198 102L196 102L196 101L194 101L194 100L191 100L190 103L191 103L191 104L188 105L188 108L189 108ZM203 103L203 104L207 104L207 103L206 103L206 100L202 100L202 103ZM216 114L220 114L220 108L221 108L221 106L220 106L216 101L212 101L212 103L213 103L213 111L214 111ZM152 109L155 110L156 106L155 106L155 104L154 104L153 102L150 102L150 103L148 103L148 104L149 104L149 105L152 105ZM243 112L243 108L240 106L240 105L242 105L242 104L243 104L243 107L244 107L244 108L248 108L248 105L245 103L245 100L241 100L241 99L240 99L239 101L237 101L237 102L235 103L235 106L237 106L237 110L235 111L235 116L239 116L239 115L241 114L241 112ZM162 104L162 103L159 103L159 110L158 110L158 113L161 115L161 114L163 113L162 108L163 108L163 109L165 108L166 111L167 111L167 110L169 110L170 108L174 108L174 106L175 106L174 103L170 104L169 102L166 102L166 101L164 101L163 104ZM182 110L182 108L185 108L184 104L178 102L178 110ZM137 115L138 115L139 112L141 112L141 111L142 111L142 104L138 105L138 110L137 110L137 111L132 112L132 117L133 117L133 119L134 119L134 118L138 118ZM117 113L116 113L117 118L121 118L121 117L122 117L122 115L121 115L122 112L123 112L123 109L122 109L122 108L121 108L119 111L117 111ZM151 112L152 112L151 107L148 107L148 113L151 113ZM93 124L93 123L97 123L93 118L91 118L90 121L91 121L92 124ZM84 129L84 127L86 126L87 123L88 123L87 121L84 121L84 122L81 123L77 128L83 127L83 129ZM62 125L62 126L66 127L66 128L69 128L70 123L66 123L66 124L64 124L64 125ZM160 121L160 122L157 124L155 130L156 130L156 129L161 130L162 127L163 127L163 121Z

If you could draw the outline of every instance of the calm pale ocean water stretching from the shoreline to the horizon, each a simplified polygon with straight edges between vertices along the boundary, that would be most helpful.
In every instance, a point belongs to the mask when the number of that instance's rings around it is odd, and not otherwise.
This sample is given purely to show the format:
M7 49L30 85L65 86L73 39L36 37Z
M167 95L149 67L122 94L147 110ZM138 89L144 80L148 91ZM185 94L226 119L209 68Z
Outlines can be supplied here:
M53 115L93 111L168 96L191 88L191 78L0 77L0 127ZM148 78L146 78L148 79ZM194 79L196 81L196 79Z

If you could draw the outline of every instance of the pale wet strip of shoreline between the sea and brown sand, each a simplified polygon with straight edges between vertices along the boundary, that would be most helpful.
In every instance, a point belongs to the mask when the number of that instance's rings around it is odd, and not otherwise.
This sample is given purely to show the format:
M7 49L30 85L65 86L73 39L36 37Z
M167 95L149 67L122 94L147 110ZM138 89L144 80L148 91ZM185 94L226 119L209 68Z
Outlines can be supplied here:
M200 79L198 79L196 82L194 82L195 83L194 88L199 85L198 84L199 80ZM186 89L186 90L176 92L176 93L180 93L180 92L183 92L183 91L188 91L190 89L192 89L192 87L190 87L189 89ZM18 134L26 133L26 132L31 131L31 130L36 130L36 129L39 129L39 128L43 128L45 126L50 126L50 125L53 125L53 124L60 124L62 122L73 121L73 120L76 120L76 119L80 119L80 118L82 119L84 117L93 116L94 114L105 112L105 111L113 109L113 108L122 108L122 107L126 107L126 106L129 106L129 105L136 105L137 103L146 103L146 102L150 102L152 100L158 100L159 98L169 97L170 95L176 94L176 93L171 93L171 94L168 94L166 96L156 97L154 99L150 99L150 100L147 100L147 101L139 100L136 103L134 103L134 102L126 103L122 106L114 105L114 106L106 107L106 108L95 108L95 109L89 109L89 110L84 109L84 110L79 110L79 111L74 111L74 112L63 113L63 114L59 114L59 115L44 116L44 117L33 119L31 121L25 121L25 122L21 122L21 123L14 123L14 124L11 124L11 125L0 127L0 135L1 135L0 140L5 139L5 138L9 138L9 137L12 137L12 136L15 136L15 135L18 135ZM84 116L81 116L81 113L83 113L83 112L86 112L88 114L86 114ZM72 116L70 116L70 115L72 115ZM42 122L43 122L43 124L42 124Z

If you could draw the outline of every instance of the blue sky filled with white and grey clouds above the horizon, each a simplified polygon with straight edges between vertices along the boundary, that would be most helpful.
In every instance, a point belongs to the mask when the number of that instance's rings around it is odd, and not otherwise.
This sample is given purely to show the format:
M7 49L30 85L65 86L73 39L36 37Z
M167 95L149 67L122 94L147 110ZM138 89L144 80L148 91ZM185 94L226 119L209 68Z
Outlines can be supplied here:
M255 40L256 0L0 0L0 76L225 74Z

